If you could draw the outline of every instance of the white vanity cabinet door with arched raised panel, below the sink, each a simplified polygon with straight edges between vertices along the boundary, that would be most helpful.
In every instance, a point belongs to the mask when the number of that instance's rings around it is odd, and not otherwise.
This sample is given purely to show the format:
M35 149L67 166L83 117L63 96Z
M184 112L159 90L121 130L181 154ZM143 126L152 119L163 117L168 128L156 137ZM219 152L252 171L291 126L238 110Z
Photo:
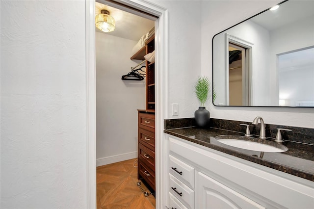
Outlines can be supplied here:
M195 208L200 209L265 209L235 190L197 172Z

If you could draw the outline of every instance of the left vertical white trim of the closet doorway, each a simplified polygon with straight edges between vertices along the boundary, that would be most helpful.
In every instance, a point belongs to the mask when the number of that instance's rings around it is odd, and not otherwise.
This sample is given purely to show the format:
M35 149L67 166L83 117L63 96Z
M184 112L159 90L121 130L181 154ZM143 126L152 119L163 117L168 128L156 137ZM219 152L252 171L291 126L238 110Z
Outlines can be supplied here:
M96 209L95 0L85 3L86 47L86 208Z

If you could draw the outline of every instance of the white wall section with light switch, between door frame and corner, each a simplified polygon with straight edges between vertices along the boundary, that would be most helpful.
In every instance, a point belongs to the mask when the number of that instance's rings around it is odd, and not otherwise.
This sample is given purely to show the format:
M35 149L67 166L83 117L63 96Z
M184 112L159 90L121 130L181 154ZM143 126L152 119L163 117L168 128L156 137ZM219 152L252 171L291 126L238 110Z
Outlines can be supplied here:
M194 117L200 103L194 85L201 76L201 1L150 0L168 9L168 118ZM172 116L171 104L179 104Z

